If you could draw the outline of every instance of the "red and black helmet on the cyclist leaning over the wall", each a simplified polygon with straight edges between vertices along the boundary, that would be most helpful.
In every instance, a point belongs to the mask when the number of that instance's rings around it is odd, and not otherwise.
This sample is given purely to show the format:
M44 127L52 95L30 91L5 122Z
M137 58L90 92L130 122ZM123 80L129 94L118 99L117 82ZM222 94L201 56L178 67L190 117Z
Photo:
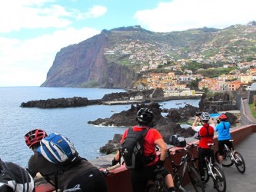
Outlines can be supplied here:
M27 134L25 134L25 142L28 145L29 148L32 147L32 145L39 143L43 138L47 137L48 134L43 131L42 129L34 129L32 131L29 131Z

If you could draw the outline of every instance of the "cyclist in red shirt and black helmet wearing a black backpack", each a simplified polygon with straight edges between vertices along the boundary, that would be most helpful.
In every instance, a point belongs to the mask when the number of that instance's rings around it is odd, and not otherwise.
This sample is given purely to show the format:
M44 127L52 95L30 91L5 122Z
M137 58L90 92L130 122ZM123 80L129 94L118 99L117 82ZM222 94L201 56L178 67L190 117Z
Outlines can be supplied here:
M152 121L154 119L154 114L148 108L140 108L137 113L136 121L138 125L132 127L133 131L142 131L148 127L151 127ZM125 141L128 135L128 129L125 130L120 144ZM158 156L156 153L156 145L161 148L161 154ZM165 177L165 184L168 187L168 191L175 191L174 183L171 174L164 167L165 157L167 155L168 147L163 140L161 134L155 128L149 128L144 136L143 142L143 154L145 159L151 159L147 162L141 170L130 170L131 171L131 183L134 192L145 191L148 180L154 180L155 170L162 170L163 176ZM121 159L121 153L115 155L112 165L118 164Z

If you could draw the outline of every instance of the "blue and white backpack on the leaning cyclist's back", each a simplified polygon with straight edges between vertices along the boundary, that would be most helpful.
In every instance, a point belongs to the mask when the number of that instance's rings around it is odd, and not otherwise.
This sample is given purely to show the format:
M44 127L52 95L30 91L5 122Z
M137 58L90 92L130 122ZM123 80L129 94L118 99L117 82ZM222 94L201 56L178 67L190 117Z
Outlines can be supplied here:
M61 134L49 134L40 141L40 144L37 152L53 164L66 166L78 163L81 159L74 144Z

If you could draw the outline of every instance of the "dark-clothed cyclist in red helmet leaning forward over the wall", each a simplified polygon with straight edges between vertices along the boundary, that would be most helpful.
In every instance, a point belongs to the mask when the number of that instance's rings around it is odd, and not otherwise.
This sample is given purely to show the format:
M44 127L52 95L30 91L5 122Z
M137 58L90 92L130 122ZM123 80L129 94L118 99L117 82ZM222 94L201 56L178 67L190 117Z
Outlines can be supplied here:
M40 173L45 177L45 180L54 186L58 186L58 189L62 191L71 189L78 184L82 191L108 191L104 175L85 158L81 158L81 161L78 161L77 164L62 166L60 171L60 167L39 154L37 149L40 147L40 141L47 136L48 134L40 128L28 131L25 134L25 143L34 151L28 161L28 170L32 177ZM58 182L58 184L55 184L55 182Z

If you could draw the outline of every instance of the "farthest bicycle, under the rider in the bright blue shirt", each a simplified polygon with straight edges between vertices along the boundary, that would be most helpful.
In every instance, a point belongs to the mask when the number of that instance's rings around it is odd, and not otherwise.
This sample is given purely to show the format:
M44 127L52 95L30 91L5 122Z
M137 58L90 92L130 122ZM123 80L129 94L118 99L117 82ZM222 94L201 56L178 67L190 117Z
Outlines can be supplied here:
M234 140L229 140L233 143ZM227 144L224 144L224 155L223 155L223 161L222 161L222 166L223 167L231 167L233 164L235 164L235 167L237 167L238 171L241 174L244 174L245 172L245 162L244 162L244 157L241 156L238 151L234 151L233 148L229 148ZM216 151L215 153L215 159L218 161L218 156L219 156L219 151Z

